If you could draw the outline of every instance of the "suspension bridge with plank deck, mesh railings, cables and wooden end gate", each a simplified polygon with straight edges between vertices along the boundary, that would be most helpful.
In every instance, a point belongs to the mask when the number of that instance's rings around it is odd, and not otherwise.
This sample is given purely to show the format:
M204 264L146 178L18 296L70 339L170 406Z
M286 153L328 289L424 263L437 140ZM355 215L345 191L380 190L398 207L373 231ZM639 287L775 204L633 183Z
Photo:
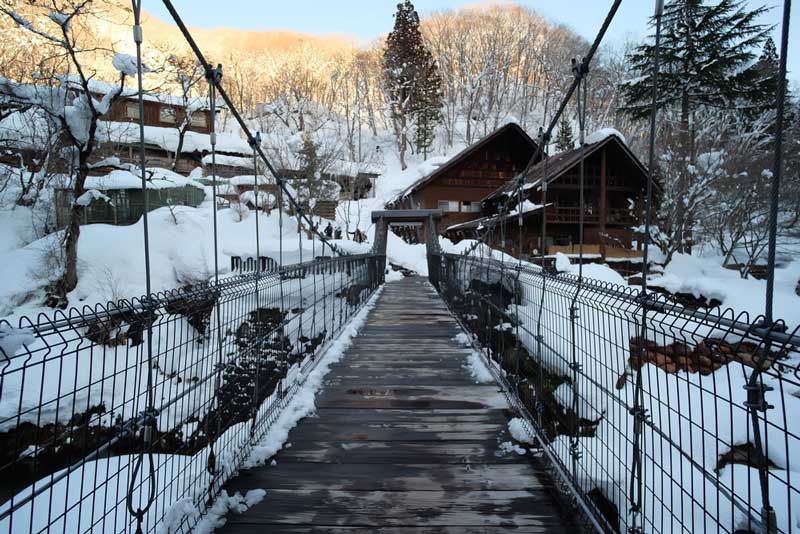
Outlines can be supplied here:
M212 174L219 97L253 149L256 203L265 169L281 221L311 239L287 265L281 233L261 261L256 205L256 261L223 275L215 206L214 275L152 293L145 209L146 296L0 323L18 339L0 349L0 531L800 532L800 332L772 317L775 206L764 317L553 274L481 240L448 254L436 210L374 212L372 250L348 255L164 3L206 69ZM583 80L619 4L538 151L573 99L583 140ZM133 13L142 117L140 1ZM487 236L513 224L499 220ZM386 283L388 232L408 223L425 227L428 278Z

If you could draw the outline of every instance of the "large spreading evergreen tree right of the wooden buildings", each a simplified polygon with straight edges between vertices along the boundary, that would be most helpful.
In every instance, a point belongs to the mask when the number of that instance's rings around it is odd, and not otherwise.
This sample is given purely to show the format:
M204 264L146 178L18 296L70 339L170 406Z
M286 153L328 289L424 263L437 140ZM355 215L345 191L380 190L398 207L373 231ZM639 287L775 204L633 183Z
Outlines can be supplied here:
M658 75L659 109L677 123L674 157L681 162L676 174L664 177L677 198L677 208L663 230L673 250L690 250L695 221L687 212L684 195L693 191L696 167L695 115L708 109L733 109L752 105L752 87L758 74L751 64L754 49L767 37L769 27L758 18L766 8L747 9L744 0L671 0L664 6L661 69ZM639 76L622 87L622 110L634 118L650 116L654 39L629 56ZM674 117L674 118L673 118ZM665 184L669 185L669 184ZM669 257L669 256L668 256Z

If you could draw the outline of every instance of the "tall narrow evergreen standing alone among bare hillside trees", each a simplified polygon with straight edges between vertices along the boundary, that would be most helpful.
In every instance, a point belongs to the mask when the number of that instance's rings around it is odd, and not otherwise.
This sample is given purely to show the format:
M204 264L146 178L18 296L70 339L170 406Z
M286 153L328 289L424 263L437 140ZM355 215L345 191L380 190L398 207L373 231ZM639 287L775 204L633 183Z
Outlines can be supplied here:
M419 15L410 0L397 4L394 29L386 39L383 73L400 164L406 168L409 132L416 122L415 144L427 151L441 120L441 78L422 40Z

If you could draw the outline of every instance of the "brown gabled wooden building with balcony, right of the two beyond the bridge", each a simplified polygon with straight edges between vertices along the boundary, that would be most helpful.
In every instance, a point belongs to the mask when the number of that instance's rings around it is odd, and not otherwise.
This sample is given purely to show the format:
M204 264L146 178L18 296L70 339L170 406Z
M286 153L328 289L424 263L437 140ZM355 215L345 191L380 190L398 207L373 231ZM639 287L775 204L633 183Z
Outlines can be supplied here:
M584 254L605 259L625 260L640 256L632 249L634 227L642 220L643 198L648 174L644 165L631 152L616 132L593 136L596 140L585 147L584 174ZM592 137L589 141L592 141ZM526 179L522 206L523 256L536 256L545 247L546 255L557 252L578 254L580 230L580 163L579 148L562 152L539 162ZM547 173L546 197L542 183ZM510 213L500 209L509 194L515 191L508 182L484 199L486 215L462 224L450 225L446 234L454 240L474 238L479 229L498 223L505 217L506 243L500 232L491 241L494 246L518 253L517 208L511 202ZM547 218L547 237L542 242L542 217ZM512 221L513 219L513 221Z

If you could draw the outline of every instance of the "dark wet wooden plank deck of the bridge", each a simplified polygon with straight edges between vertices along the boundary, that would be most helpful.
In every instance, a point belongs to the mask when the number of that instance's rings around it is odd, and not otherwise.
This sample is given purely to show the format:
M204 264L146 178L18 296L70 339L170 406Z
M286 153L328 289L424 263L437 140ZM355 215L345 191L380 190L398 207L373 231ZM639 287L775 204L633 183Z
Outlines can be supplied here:
M387 284L317 416L228 485L264 500L218 532L575 532L530 455L501 447L505 398L472 379L459 332L425 279Z

